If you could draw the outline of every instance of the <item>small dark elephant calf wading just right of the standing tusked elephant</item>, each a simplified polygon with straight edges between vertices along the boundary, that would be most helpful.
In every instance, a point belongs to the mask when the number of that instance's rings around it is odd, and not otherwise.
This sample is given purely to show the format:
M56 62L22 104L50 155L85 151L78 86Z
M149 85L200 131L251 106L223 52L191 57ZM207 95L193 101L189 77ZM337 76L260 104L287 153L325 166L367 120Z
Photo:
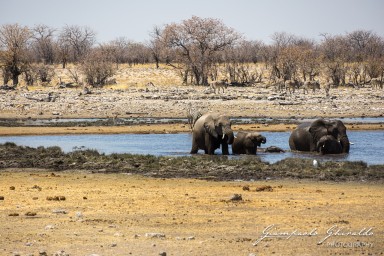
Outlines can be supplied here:
M232 153L255 155L257 146L266 142L267 139L258 132L238 132L232 144Z

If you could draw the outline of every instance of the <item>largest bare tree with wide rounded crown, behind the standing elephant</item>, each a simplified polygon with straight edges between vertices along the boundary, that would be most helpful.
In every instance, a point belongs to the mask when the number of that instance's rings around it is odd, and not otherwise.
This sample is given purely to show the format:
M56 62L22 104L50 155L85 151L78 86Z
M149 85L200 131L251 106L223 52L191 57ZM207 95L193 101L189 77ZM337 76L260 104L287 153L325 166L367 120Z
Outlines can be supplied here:
M184 72L191 72L194 83L200 85L208 84L217 53L235 45L241 36L217 19L193 16L180 24L166 25L162 38L164 45L176 51L176 61L183 63Z

